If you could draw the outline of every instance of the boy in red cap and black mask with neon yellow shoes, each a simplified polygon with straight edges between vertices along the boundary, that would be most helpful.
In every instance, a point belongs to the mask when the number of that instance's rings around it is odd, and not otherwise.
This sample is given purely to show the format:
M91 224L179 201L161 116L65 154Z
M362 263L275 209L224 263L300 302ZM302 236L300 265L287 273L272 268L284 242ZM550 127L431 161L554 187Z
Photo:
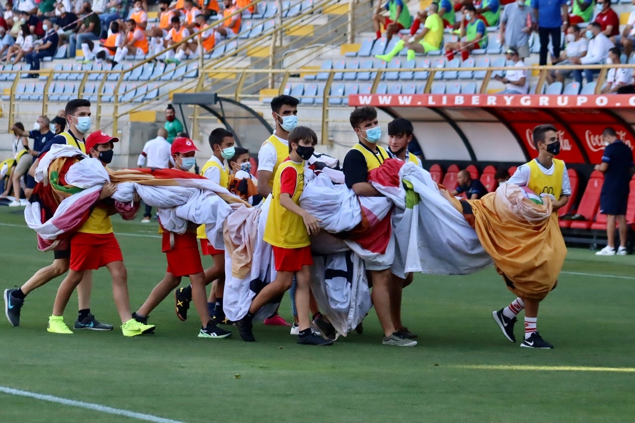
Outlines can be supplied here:
M119 138L111 137L105 132L91 133L86 138L88 160L98 160L105 167L112 161L112 149L116 142L119 142ZM110 215L117 213L114 201L110 198L116 189L117 185L112 182L104 184L99 200L91 209L88 219L70 239L70 270L55 295L53 313L48 319L48 332L73 333L64 323L63 317L70 295L81 282L84 271L97 270L104 266L112 276L112 296L121 318L123 335L134 337L154 330L154 326L144 325L133 319L130 312L126 266L123 264L121 248L112 232L110 221ZM135 205L139 205L136 194Z

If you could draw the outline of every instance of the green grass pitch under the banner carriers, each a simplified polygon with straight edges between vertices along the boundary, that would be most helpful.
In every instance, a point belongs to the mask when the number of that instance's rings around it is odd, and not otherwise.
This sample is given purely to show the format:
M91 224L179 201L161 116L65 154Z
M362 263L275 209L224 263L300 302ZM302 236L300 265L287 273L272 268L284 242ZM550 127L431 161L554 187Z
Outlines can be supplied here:
M156 224L114 219L135 310L163 277ZM0 208L0 288L22 285L52 253L36 250L22 208ZM207 259L208 260L208 259ZM204 263L211 265L211 262ZM27 297L20 327L0 320L0 387L187 422L633 421L635 257L570 249L538 330L555 349L511 344L491 311L513 299L493 268L469 276L415 276L404 322L419 345L381 345L371 311L363 335L332 347L295 344L288 328L256 324L257 342L197 339L166 299L156 335L119 330L109 273L95 272L91 310L113 332L46 332L61 278ZM76 297L65 321L76 319ZM281 314L290 319L285 296ZM522 315L516 325L521 339ZM121 415L0 393L0 421L119 422Z

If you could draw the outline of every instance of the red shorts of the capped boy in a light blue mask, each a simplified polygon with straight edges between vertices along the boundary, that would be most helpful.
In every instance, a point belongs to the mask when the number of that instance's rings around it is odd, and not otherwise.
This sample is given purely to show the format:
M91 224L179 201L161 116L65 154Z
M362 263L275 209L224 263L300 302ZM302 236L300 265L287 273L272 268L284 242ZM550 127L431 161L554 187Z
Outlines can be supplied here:
M201 254L196 242L196 234L185 232L174 235L174 246L170 248L170 233L163 232L163 252L168 259L168 272L174 276L189 276L203 271Z

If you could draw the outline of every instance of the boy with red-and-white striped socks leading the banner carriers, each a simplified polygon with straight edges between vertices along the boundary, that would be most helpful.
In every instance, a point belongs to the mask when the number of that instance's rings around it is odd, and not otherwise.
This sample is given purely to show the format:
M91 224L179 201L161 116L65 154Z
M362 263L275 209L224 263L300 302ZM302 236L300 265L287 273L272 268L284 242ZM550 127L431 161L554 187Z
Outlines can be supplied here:
M558 129L550 124L536 126L533 129L533 145L538 151L538 157L519 166L507 182L526 186L541 197L552 197L553 213L557 214L558 209L566 205L571 196L571 184L565 162L554 158L560 152ZM525 309L525 339L521 347L551 349L553 346L537 332L539 305L539 301L518 297L507 307L491 314L505 338L510 342L516 342L516 315Z

